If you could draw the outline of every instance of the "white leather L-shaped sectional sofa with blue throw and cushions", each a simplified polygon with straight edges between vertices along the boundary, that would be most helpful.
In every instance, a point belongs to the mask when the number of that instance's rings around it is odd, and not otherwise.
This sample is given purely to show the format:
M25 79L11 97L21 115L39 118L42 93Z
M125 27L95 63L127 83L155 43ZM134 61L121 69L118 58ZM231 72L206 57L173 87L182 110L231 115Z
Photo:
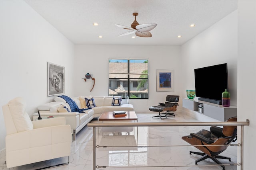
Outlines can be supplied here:
M114 96L118 97L118 96ZM76 102L76 105L81 109L82 104L80 102L81 98L85 96L73 97L72 100ZM89 98L89 97L88 97ZM60 97L56 97L54 102L43 104L38 106L38 111L42 118L47 118L49 116L53 117L65 117L66 124L71 126L73 140L76 140L76 133L78 133L87 123L89 123L93 118L97 118L104 111L134 111L132 104L121 104L121 106L112 106L113 96L90 96L94 98L96 107L85 110L84 113L78 112L58 112L60 107L66 106L71 111L71 108L66 101ZM38 113L33 114L33 120L38 119Z

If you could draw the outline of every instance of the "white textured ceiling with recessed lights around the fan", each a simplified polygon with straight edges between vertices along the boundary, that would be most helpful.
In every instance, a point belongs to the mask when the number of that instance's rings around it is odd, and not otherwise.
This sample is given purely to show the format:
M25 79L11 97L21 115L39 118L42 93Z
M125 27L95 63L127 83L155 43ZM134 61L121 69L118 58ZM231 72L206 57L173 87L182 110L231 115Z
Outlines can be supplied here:
M75 44L182 45L237 9L237 0L25 0L38 14ZM130 27L157 23L152 37L132 35ZM94 26L97 22L99 25ZM196 24L190 27L191 23ZM101 35L102 38L98 38ZM177 38L177 35L182 35Z

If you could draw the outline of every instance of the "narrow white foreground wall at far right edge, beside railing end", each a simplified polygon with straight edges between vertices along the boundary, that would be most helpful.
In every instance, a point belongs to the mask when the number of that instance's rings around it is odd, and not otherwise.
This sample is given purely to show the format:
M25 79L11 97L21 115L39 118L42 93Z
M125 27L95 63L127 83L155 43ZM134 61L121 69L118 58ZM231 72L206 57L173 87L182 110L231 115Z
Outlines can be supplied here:
M256 1L238 1L238 121L244 127L244 170L255 169Z

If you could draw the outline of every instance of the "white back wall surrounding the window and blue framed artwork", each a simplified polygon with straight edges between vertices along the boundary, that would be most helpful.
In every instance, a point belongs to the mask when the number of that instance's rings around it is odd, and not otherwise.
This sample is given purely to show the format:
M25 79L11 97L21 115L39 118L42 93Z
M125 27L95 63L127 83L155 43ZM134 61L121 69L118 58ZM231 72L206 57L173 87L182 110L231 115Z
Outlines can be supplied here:
M180 46L75 45L76 96L108 96L108 59L110 58L149 59L149 99L129 99L136 112L148 111L148 107L156 106L158 102L165 102L168 94L180 95L182 80ZM174 92L156 92L156 70L165 69L174 70ZM82 79L87 72L96 78L92 92L90 92L92 81L84 82Z

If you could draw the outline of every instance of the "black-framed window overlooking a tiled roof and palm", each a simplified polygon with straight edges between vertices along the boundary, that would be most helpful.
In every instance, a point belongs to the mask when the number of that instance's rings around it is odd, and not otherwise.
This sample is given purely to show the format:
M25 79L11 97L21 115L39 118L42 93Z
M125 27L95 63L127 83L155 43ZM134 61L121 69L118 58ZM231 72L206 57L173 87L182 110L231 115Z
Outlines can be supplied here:
M109 59L109 96L148 99L148 60Z

